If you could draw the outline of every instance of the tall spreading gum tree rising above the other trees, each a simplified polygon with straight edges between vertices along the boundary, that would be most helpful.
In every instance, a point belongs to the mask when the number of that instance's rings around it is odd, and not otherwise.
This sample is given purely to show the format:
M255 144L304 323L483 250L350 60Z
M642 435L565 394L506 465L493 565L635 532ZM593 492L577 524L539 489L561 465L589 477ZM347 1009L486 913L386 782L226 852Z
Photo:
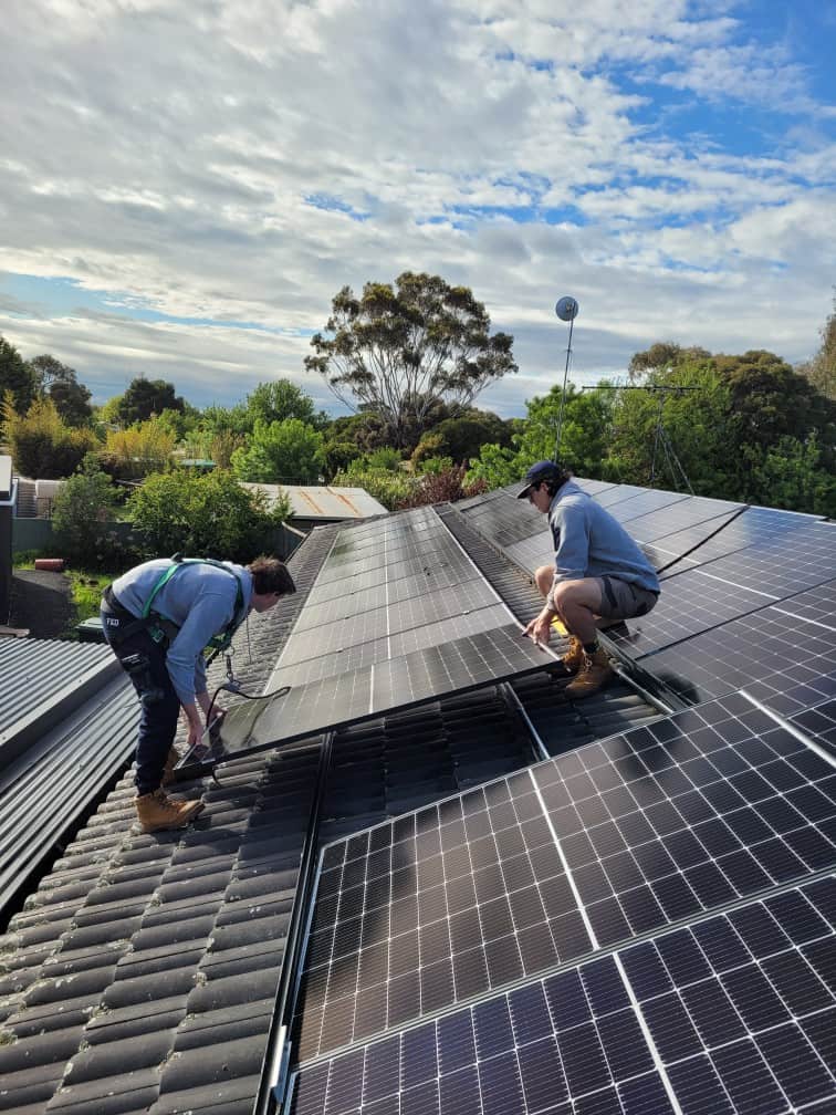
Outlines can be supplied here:
M488 384L517 370L513 338L489 329L469 288L405 271L393 285L367 283L359 299L343 287L331 303L330 336L311 338L315 356L304 362L342 403L377 410L402 448L410 417L420 437L439 401L467 407Z

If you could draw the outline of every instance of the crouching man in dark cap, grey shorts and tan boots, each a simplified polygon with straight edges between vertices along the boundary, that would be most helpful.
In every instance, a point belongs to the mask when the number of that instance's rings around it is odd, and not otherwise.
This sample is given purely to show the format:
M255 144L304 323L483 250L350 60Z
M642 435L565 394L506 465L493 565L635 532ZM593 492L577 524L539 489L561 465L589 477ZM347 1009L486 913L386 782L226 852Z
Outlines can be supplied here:
M659 578L621 523L554 462L532 465L517 498L548 515L554 539L554 565L541 565L534 574L546 602L525 634L548 642L558 617L571 638L561 659L566 673L574 675L566 694L589 697L612 677L597 640L599 619L610 624L647 615L659 599Z

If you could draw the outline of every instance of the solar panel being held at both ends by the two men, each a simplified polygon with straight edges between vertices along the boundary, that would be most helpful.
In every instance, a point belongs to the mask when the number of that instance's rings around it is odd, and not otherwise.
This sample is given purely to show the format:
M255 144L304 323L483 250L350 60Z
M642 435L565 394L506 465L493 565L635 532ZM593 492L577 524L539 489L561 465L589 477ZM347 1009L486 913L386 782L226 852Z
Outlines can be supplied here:
M554 661L554 656L543 647L521 638L516 624L464 636L443 646L299 686L281 699L260 702L257 715L246 706L240 712L242 706L236 706L214 734L211 749L193 749L179 765L218 763L265 750L446 694L533 673ZM246 733L241 730L239 717L246 718Z

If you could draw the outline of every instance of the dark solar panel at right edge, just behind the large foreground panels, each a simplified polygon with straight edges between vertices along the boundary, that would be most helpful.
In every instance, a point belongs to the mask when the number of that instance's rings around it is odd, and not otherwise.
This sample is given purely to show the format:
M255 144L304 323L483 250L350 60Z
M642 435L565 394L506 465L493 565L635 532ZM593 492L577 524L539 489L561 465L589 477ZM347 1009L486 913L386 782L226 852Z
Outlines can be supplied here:
M836 696L836 632L772 607L649 655L641 663L693 702L746 689L793 716Z

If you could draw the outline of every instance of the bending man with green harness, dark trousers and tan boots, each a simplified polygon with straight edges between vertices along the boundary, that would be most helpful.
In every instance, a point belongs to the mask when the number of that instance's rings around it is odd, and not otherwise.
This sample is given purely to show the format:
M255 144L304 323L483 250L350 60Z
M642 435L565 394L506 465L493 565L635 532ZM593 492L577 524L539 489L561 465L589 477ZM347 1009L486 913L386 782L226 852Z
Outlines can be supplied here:
M189 747L210 715L204 649L226 649L251 610L265 612L295 591L275 558L243 566L178 556L137 565L105 590L101 628L142 705L135 805L144 832L179 828L203 808L201 801L169 798L163 786L178 758L181 708Z

